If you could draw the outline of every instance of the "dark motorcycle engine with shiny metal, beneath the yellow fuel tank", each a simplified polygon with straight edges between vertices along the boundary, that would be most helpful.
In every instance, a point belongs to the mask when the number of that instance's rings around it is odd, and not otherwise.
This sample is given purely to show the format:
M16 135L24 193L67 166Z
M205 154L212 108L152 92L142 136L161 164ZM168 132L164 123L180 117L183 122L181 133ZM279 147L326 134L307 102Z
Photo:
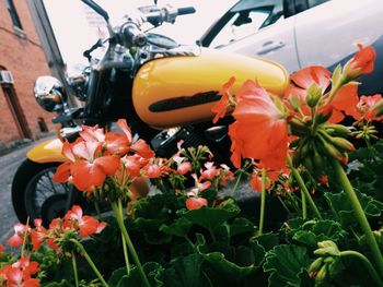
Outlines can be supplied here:
M160 132L151 141L155 154L170 158L177 153L177 143L184 141L182 147L198 146L202 144L200 136L192 127L172 128Z

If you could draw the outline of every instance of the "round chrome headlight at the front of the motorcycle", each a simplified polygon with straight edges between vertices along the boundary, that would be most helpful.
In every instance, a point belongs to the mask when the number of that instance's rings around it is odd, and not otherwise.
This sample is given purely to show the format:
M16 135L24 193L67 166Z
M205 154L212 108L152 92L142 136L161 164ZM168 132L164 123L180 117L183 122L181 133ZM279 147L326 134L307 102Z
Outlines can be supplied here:
M54 76L37 77L34 86L35 98L40 107L47 111L62 111L66 93L62 83Z

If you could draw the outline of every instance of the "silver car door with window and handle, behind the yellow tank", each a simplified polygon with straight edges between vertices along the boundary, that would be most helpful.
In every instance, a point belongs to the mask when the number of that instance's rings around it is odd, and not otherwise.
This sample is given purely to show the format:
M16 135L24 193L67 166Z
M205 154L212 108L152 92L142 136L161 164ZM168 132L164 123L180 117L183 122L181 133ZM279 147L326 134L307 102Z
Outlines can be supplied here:
M209 47L264 57L282 64L289 72L299 69L294 19L285 19L282 0L240 1L230 12L231 17L221 25Z

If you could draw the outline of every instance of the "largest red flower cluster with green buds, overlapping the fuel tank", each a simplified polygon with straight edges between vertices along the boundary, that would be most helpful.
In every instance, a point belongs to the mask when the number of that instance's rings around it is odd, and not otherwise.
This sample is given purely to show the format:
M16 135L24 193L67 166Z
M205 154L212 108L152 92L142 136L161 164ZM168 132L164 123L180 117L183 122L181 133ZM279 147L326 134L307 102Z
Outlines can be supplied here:
M382 100L378 95L358 98L353 80L370 73L375 59L372 47L359 45L359 49L344 69L339 65L334 73L318 65L293 73L282 97L269 94L256 81L246 81L232 96L228 89L233 80L229 80L223 92L230 97L222 97L212 111L217 120L228 107L233 109L235 122L229 128L233 164L240 167L242 158L253 158L266 169L279 170L286 167L288 147L294 151L295 166L305 166L317 178L323 176L321 170L327 162L347 163L347 152L355 147L345 139L349 129L337 123L345 116L380 119L374 107Z

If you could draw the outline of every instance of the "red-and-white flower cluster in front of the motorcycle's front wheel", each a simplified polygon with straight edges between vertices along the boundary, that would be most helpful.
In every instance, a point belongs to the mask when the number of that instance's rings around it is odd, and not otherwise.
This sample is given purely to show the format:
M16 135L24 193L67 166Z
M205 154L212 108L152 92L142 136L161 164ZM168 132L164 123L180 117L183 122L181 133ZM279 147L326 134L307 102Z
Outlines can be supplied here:
M150 165L149 159L154 152L143 140L132 142L126 120L118 120L117 125L124 133L105 133L97 125L83 125L74 143L63 143L62 154L68 160L59 166L54 180L71 181L76 188L91 194L102 188L106 178L124 192L142 176L142 170L148 177L153 177L155 165Z

